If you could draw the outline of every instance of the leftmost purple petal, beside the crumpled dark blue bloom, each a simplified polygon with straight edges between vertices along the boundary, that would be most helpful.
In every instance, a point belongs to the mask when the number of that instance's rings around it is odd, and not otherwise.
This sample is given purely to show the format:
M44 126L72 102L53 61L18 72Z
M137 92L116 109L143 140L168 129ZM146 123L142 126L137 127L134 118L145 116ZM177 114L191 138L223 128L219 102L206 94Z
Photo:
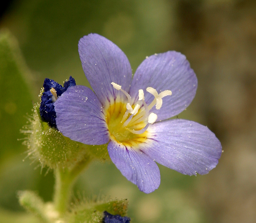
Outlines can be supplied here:
M102 105L85 86L69 87L54 103L59 131L72 140L89 145L109 141L109 131Z

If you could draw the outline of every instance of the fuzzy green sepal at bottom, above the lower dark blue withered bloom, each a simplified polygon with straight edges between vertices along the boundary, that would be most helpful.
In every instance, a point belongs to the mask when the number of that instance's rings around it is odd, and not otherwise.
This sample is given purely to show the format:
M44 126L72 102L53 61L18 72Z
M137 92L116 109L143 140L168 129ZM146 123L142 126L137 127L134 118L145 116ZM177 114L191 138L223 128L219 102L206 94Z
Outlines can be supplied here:
M68 223L92 222L102 223L103 212L107 211L112 215L125 216L128 208L127 199L116 199L110 201L91 201L79 204L72 209L67 217Z

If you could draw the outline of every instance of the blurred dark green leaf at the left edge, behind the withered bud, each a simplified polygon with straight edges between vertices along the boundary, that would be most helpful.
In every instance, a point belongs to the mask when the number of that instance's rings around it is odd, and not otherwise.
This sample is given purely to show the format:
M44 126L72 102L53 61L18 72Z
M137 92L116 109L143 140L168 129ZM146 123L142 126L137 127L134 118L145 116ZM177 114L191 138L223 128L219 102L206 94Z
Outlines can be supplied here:
M17 139L21 138L20 129L26 114L31 113L33 103L28 87L30 72L25 67L16 40L10 34L1 32L0 44L0 158L3 159L17 151L24 151L25 147ZM30 77L33 86L31 81Z

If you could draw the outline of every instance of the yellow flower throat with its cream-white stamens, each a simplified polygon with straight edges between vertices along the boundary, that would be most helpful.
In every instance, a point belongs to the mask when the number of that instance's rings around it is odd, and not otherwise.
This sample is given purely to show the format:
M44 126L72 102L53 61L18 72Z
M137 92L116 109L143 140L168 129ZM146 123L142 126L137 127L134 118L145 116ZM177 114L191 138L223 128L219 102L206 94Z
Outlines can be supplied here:
M107 110L106 122L112 138L120 143L133 144L133 142L143 142L148 136L147 128L157 120L157 114L151 112L153 106L159 110L162 106L162 98L167 95L172 95L170 90L165 90L160 94L152 87L147 87L146 91L154 95L154 100L147 105L144 101L144 92L139 90L139 103L132 105L131 96L124 91L120 85L111 83L116 90L120 90L128 99L126 102L115 102L110 105Z

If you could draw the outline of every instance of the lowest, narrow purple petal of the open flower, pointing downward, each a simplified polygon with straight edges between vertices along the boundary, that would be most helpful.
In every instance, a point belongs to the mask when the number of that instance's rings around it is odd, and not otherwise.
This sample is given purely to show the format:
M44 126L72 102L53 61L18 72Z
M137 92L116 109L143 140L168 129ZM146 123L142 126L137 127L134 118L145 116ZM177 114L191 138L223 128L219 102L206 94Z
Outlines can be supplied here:
M108 152L117 169L139 190L151 193L160 185L160 171L157 164L139 150L127 148L114 140L108 144Z

